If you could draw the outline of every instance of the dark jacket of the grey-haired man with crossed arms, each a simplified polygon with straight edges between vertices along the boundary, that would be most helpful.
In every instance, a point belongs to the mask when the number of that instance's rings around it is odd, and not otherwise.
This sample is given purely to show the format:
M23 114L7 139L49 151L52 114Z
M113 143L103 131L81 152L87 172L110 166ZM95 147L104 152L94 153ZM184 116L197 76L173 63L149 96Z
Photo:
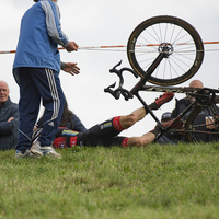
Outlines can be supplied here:
M8 122L10 117L13 120ZM19 106L10 97L0 106L0 150L15 149L19 134Z

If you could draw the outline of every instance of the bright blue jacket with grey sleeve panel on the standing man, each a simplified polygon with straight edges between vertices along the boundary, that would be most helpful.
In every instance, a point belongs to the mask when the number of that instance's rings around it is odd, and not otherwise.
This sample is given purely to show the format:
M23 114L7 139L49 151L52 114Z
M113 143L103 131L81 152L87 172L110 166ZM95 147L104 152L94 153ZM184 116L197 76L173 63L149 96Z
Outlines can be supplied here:
M67 47L68 37L61 31L60 11L50 0L39 0L22 18L20 37L13 64L16 68L49 68L60 71L58 45Z

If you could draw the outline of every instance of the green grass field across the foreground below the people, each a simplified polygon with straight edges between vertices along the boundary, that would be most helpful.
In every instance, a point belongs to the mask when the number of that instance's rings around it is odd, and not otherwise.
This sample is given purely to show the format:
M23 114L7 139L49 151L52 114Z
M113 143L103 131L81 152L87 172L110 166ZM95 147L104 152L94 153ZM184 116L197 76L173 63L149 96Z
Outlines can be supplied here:
M59 152L0 152L0 218L219 218L218 143Z

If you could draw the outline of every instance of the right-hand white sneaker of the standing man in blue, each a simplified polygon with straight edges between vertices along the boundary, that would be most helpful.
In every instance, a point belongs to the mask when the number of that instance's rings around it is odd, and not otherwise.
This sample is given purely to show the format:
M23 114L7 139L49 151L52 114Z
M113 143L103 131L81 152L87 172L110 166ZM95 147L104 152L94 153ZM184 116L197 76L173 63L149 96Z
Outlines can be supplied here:
M50 157L50 158L61 158L61 155L57 153L51 146L41 147L39 141L36 141L33 143L31 148L31 152L38 158L44 157L44 155Z

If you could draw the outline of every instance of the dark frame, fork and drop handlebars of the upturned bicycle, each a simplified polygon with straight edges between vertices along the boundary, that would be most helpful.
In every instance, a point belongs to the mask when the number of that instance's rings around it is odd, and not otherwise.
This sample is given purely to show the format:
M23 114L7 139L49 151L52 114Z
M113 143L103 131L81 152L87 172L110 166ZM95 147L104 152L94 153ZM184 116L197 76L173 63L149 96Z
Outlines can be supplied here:
M170 130L171 126L173 126L175 123L177 123L180 119L182 119L183 116L185 114L187 114L196 105L200 104L200 105L208 106L208 105L211 105L211 104L215 104L215 103L219 103L219 96L216 96L216 93L219 93L219 90L216 90L216 89L209 89L209 88L198 89L198 88L187 88L187 87L173 88L173 87L146 85L146 82L148 81L148 78L152 74L154 69L158 67L158 65L160 64L160 61L162 61L162 59L164 57L165 57L164 55L160 54L159 57L149 67L149 69L146 72L145 77L141 78L130 91L128 91L128 90L123 88L123 83L124 83L123 71L129 71L135 77L136 77L136 74L135 74L132 69L128 69L128 68L122 68L120 70L116 69L116 67L118 67L120 65L120 62L122 62L120 61L113 69L110 70L111 72L114 72L119 77L119 85L118 85L118 88L115 89L115 90L112 90L112 88L115 87L115 83L114 83L114 84L110 85L108 88L104 89L105 92L110 92L115 99L119 99L120 94L125 97L126 101L128 101L129 99L132 99L134 96L136 96L140 101L140 103L143 105L146 111L152 116L152 118L157 122L157 124L162 129L161 134L157 136L157 139L160 138L168 130ZM140 91L186 93L188 95L192 95L192 96L196 97L196 101L191 103L177 117L175 117L173 119L173 122L171 123L171 126L163 127L163 125L160 122L160 119L154 115L154 113L148 107L148 105L145 102L145 100L140 96L140 94L139 94ZM200 92L200 91L204 91L204 92ZM217 119L218 119L218 117L217 117ZM217 123L218 123L218 120L217 120ZM186 132L186 131L187 130L185 130L184 132ZM216 134L219 135L219 132L216 132Z

